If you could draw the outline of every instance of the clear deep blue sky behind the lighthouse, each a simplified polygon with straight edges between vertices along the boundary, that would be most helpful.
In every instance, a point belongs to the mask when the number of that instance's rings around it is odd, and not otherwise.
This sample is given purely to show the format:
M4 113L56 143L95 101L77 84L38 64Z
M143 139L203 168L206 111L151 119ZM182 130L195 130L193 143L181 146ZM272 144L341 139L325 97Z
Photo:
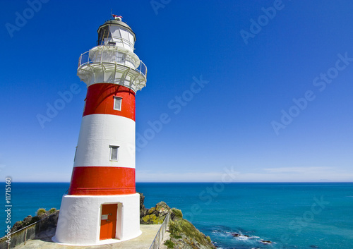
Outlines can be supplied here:
M227 171L239 182L353 180L353 1L0 8L2 178L70 181L86 93L78 58L112 9L148 67L136 95L137 181L222 181Z

